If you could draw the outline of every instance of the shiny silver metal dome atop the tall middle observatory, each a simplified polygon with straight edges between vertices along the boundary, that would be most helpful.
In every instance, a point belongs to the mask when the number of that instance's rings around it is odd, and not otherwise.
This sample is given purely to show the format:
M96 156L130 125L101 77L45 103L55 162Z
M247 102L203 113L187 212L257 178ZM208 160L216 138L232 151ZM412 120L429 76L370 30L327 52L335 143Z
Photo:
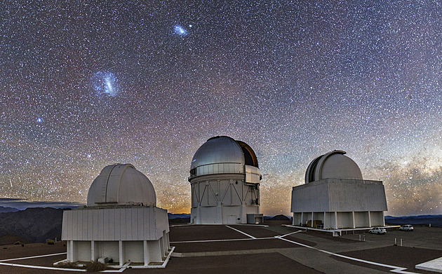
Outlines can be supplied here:
M246 143L231 137L217 136L207 140L194 154L191 177L215 173L243 173L244 165L258 167L255 151Z

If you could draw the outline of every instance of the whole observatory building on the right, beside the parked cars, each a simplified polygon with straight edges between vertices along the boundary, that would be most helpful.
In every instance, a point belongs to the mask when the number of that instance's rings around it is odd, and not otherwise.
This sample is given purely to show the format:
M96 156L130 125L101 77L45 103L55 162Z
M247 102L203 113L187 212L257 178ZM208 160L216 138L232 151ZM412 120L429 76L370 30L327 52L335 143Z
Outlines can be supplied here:
M362 178L345 151L312 160L305 184L292 190L293 225L323 229L384 226L387 200L382 181Z

